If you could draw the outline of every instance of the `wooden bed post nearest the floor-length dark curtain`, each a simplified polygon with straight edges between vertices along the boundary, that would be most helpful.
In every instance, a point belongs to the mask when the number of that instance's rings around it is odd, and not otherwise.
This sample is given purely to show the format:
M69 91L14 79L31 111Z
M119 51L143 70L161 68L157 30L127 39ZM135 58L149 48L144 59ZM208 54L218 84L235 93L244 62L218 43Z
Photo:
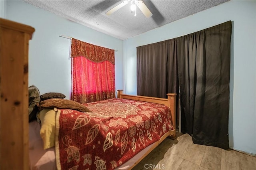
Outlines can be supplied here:
M168 93L167 99L168 99L168 105L170 107L171 116L172 116L172 124L174 127L174 133L172 136L170 136L171 139L176 138L176 93Z

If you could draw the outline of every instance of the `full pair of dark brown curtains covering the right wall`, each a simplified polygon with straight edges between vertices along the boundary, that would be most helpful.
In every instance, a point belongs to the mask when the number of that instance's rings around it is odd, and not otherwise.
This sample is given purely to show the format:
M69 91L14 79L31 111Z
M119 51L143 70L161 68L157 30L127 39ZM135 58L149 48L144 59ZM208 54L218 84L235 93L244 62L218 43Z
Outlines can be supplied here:
M166 97L180 88L181 129L196 144L229 148L231 30L228 21L137 47L137 94Z

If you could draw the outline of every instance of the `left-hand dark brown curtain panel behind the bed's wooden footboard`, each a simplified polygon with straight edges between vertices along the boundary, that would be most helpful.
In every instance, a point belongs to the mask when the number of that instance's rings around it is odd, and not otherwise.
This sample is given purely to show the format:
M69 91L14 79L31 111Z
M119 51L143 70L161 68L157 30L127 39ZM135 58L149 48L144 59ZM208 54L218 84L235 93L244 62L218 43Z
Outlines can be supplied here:
M169 48L171 46L171 48ZM166 40L137 47L137 95L167 98L178 94L176 42ZM176 98L176 122L179 122ZM178 124L176 124L178 127Z

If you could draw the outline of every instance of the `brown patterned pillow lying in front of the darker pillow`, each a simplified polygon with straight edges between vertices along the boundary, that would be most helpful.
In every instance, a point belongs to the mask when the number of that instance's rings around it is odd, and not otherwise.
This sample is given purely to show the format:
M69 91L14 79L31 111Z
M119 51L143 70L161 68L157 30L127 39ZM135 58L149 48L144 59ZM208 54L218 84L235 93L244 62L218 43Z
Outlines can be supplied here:
M37 107L40 111L57 107L60 109L74 109L80 112L92 112L85 105L68 99L47 99L38 103Z

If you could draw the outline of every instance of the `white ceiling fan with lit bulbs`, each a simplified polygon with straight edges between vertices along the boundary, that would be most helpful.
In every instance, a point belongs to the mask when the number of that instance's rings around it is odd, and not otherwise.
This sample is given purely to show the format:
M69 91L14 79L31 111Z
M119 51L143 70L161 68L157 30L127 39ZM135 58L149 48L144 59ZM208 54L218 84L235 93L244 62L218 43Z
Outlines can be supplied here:
M138 6L138 8L141 10L141 12L144 14L144 16L146 16L146 18L150 18L153 15L142 0L125 0L125 1L121 2L120 4L118 4L117 6L115 6L114 8L108 10L106 12L106 14L110 15L113 12L116 12L117 10L119 10L120 8L122 8L123 6L128 4L129 2L131 3L132 12L135 11L134 16L137 15L136 14L136 6Z

